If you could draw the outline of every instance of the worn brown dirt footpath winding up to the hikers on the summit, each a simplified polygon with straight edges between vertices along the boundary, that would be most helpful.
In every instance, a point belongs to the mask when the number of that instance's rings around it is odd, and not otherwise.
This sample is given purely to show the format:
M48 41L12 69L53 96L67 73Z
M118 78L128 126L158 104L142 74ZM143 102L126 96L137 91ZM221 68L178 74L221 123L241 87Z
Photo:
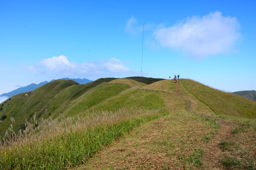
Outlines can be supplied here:
M187 111L200 114L202 117L214 120L220 125L217 136L213 137L207 144L205 144L203 148L204 156L202 158L202 165L205 170L224 170L225 168L220 163L222 151L219 147L219 144L220 141L225 140L227 137L231 135L231 130L234 128L234 125L232 125L227 120L225 121L223 119L217 118L217 116L213 113L212 110L210 110L208 106L198 101L191 93L187 92L185 89L183 89L182 93L182 91L180 90L182 84L180 85L180 83L177 83L174 85L175 91L158 91L178 95L179 97L183 98L184 101L186 101ZM186 92L186 95L184 94L184 92ZM168 104L169 102L167 101L166 103Z

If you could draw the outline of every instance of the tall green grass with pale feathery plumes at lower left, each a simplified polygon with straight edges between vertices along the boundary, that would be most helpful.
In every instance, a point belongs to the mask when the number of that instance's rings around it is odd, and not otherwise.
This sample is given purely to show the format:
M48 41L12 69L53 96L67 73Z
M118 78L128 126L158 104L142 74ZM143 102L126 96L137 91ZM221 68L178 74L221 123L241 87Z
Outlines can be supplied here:
M102 111L62 121L42 119L36 127L14 134L9 128L0 144L0 169L67 169L80 165L141 122L167 114L160 110ZM37 122L35 122L37 124Z

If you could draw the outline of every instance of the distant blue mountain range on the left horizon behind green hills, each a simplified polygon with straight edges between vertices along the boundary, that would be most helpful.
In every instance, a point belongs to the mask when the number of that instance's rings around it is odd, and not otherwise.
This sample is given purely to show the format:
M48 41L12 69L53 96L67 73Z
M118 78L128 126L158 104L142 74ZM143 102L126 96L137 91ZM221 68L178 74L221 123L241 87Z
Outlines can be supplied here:
M86 83L92 82L91 80L88 80L86 78L83 78L83 79L81 79L81 78L61 78L61 79L62 80L73 80L73 81L75 81L75 82L77 82L79 84L86 84ZM13 91L11 91L9 93L3 93L3 94L0 95L0 97L4 97L5 96L5 97L10 98L10 97L12 97L12 96L14 96L16 94L19 94L19 93L30 92L30 91L35 90L37 87L40 87L40 86L45 85L47 83L50 83L50 82L52 82L54 80L51 80L49 82L48 81L44 81L44 82L39 83L38 85L35 84L35 83L32 83L32 84L27 85L25 87L20 87L20 88L18 88L16 90L13 90Z

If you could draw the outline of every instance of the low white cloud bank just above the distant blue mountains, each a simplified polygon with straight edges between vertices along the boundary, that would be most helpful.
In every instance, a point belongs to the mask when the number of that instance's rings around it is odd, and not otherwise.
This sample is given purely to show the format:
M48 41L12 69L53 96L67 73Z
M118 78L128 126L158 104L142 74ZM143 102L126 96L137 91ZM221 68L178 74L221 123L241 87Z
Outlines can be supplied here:
M64 76L72 75L113 75L131 73L130 68L126 67L119 59L110 58L101 60L99 62L84 62L79 64L77 62L71 62L69 59L60 55L58 57L52 57L42 59L34 66L28 66L29 70L36 70L36 72L52 72L62 74Z

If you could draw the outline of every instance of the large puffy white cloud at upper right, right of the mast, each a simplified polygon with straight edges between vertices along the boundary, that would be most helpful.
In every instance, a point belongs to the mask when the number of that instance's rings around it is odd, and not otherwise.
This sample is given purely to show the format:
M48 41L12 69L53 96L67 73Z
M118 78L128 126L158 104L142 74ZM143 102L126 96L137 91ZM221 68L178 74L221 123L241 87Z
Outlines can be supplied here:
M187 17L179 23L160 25L153 33L162 46L183 50L194 58L229 53L241 37L236 17L216 11L203 17Z

